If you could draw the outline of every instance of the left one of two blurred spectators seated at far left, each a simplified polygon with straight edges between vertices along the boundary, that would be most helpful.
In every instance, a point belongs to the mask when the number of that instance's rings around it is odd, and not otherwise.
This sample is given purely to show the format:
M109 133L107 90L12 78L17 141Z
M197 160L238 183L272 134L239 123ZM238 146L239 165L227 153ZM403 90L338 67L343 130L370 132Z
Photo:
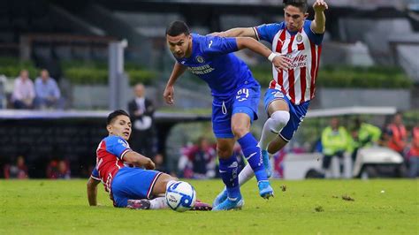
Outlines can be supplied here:
M29 79L27 70L22 70L14 81L11 101L15 109L34 108L34 83Z

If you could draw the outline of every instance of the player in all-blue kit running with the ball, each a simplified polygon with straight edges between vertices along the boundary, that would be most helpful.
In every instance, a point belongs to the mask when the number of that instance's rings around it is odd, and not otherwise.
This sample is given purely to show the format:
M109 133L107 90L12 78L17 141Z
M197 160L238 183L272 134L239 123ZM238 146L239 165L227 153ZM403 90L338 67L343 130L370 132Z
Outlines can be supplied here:
M287 61L276 57L255 39L191 34L187 24L182 21L174 21L167 27L166 41L176 63L164 89L165 101L173 104L174 84L187 69L208 83L213 96L212 128L217 138L219 172L228 195L213 210L241 208L243 205L237 177L238 163L233 154L236 140L255 172L260 196L266 199L273 196L261 149L250 133L250 125L257 119L260 86L248 66L232 52L251 49L268 57L278 70L286 67Z

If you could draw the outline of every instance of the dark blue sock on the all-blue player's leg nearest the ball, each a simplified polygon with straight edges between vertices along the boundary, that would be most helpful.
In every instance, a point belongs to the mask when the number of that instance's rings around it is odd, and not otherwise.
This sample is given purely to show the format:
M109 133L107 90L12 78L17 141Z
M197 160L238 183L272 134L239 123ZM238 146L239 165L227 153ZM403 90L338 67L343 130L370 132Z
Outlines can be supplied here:
M219 171L229 198L240 197L239 172L237 172L239 163L237 163L236 155L232 155L228 159L219 159Z

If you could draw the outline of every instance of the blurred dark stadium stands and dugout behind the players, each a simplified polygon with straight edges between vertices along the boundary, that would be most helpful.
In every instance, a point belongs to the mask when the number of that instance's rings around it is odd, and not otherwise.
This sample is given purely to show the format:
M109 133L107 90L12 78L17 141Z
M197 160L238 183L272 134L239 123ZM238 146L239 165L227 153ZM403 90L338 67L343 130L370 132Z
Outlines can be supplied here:
M105 117L110 110L127 109L132 88L139 82L156 106L150 157L163 155L161 169L180 177L217 175L214 155L205 163L212 173L203 175L190 172L194 159L188 156L200 137L207 138L209 146L214 140L209 88L186 74L177 84L176 104L164 104L164 86L173 64L165 27L180 19L192 31L209 34L282 21L279 2L0 1L0 177L10 177L6 171L19 168L23 161L29 178L87 178L95 165L95 148L106 135ZM316 156L322 156L313 152L330 117L339 117L348 130L356 117L384 129L396 111L403 111L408 130L419 123L419 1L327 3L316 99L298 135L276 158L278 178L286 178L287 155L307 155L293 171L299 171L307 159L318 162ZM248 51L237 54L267 87L271 72L266 59ZM11 101L15 78L27 70L34 80L42 69L57 80L61 105L17 110ZM260 120L253 129L257 134L266 119L262 102L260 107ZM291 173L288 178L293 177L307 175Z

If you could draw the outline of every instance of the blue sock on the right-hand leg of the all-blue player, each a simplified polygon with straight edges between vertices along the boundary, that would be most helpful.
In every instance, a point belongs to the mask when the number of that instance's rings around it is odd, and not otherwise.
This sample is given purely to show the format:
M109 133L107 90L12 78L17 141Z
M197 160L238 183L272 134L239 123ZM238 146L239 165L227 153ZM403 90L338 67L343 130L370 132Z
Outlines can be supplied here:
M248 160L248 164L255 172L257 182L261 180L268 180L268 176L266 175L266 171L263 166L261 148L257 147L257 140L255 140L252 133L245 134L238 141L241 146L241 151L243 151L243 154Z

